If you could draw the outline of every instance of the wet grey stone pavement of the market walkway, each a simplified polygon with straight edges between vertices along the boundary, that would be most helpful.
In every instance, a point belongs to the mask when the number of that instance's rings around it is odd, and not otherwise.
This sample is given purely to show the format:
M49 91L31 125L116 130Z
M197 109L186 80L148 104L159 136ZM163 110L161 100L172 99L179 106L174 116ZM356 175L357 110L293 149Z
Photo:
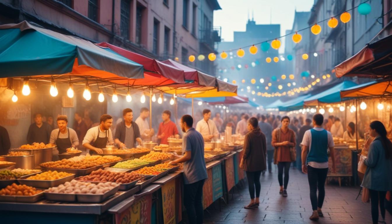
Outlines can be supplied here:
M238 190L234 189L234 197L229 196L229 203L212 204L205 212L207 224L369 224L372 223L370 203L363 203L361 196L358 200L359 187L327 185L326 196L322 211L324 217L315 222L309 220L312 206L309 198L307 175L298 169L290 168L290 180L287 187L289 197L279 195L277 171L261 176L260 207L247 210L243 206L249 204L250 197L247 184ZM392 224L392 216L386 212L386 222ZM381 219L381 215L380 215Z

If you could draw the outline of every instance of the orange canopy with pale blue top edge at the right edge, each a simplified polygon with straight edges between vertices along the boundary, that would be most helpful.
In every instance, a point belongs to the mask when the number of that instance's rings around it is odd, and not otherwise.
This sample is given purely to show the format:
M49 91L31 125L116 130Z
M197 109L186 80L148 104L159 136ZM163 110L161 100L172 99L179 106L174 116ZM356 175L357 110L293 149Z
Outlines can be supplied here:
M374 81L340 91L340 97L378 97L392 95L391 81Z

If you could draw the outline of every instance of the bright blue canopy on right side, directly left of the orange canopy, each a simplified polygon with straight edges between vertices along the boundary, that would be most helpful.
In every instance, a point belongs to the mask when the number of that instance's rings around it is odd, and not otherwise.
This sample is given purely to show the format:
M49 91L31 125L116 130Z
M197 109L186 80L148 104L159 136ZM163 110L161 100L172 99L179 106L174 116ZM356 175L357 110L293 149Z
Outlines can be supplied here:
M341 102L340 91L352 86L357 86L357 84L352 81L343 81L330 89L306 98L303 103L305 106L318 106L319 104Z

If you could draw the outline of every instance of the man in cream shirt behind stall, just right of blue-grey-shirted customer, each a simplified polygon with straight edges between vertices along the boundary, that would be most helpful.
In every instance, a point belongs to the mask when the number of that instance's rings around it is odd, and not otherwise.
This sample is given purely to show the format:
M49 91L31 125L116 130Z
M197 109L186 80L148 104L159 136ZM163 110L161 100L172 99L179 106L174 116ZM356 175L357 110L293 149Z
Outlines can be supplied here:
M212 138L219 136L215 123L210 119L211 111L203 110L203 119L196 124L196 131L200 132L205 142L211 142Z

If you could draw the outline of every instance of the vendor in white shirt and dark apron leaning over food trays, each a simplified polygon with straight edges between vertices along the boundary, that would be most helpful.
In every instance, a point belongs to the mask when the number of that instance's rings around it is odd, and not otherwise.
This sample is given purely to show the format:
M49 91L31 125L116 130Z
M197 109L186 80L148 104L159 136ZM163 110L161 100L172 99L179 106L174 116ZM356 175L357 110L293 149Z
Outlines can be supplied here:
M112 116L104 114L101 116L100 122L100 125L91 127L83 139L83 147L96 153L103 153L102 149L106 148L107 144L114 144L110 130L113 124Z

